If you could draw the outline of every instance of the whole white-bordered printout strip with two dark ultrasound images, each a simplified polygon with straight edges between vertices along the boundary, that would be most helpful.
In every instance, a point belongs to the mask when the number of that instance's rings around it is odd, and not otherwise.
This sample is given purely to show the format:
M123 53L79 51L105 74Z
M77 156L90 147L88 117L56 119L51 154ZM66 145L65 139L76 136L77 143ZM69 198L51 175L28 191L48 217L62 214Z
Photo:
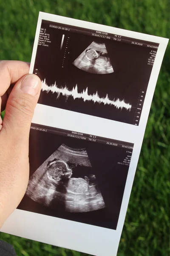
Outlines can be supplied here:
M40 12L28 187L2 232L116 256L167 43Z

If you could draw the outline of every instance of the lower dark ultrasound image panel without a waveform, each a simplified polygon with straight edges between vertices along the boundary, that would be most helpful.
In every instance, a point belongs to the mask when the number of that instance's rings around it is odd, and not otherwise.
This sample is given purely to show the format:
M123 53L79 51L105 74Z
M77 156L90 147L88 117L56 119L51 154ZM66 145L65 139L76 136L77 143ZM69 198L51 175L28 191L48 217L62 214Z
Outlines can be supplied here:
M31 129L30 179L18 208L116 230L133 144L71 134Z

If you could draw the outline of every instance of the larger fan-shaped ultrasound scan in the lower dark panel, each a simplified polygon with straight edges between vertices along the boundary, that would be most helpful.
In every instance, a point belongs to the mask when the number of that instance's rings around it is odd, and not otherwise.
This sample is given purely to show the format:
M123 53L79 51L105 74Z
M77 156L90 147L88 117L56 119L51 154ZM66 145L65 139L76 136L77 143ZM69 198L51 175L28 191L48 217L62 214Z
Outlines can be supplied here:
M62 144L31 176L26 195L51 209L90 212L105 207L85 148Z

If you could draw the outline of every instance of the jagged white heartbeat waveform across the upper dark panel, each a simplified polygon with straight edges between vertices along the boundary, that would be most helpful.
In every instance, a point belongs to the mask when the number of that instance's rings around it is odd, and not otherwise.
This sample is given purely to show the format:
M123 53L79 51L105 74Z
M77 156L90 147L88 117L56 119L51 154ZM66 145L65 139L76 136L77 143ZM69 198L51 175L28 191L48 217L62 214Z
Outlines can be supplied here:
M42 91L45 91L46 93L57 93L57 99L59 98L60 94L62 94L63 96L66 97L66 99L68 99L68 97L72 96L73 99L82 99L84 102L86 101L93 101L94 103L103 103L104 105L113 105L114 107L116 107L117 109L121 109L125 108L126 110L129 110L132 108L132 105L130 105L130 103L126 103L125 100L120 100L120 99L109 99L108 98L108 94L104 97L104 98L100 98L98 95L98 92L96 91L96 93L94 94L88 94L88 87L83 90L81 93L78 92L78 87L77 84L75 87L72 88L72 90L69 90L66 86L65 87L57 87L57 84L55 82L55 84L52 85L48 85L46 84L46 81L44 79L44 81L42 81L42 87L41 87Z

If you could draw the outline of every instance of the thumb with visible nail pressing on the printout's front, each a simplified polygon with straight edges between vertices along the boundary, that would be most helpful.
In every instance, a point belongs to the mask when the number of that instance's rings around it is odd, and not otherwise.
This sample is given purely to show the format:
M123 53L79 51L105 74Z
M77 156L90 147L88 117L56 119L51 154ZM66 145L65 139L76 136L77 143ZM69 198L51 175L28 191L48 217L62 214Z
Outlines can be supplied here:
M8 101L3 119L3 128L10 137L29 137L34 108L40 96L41 80L34 74L22 77L14 85Z

